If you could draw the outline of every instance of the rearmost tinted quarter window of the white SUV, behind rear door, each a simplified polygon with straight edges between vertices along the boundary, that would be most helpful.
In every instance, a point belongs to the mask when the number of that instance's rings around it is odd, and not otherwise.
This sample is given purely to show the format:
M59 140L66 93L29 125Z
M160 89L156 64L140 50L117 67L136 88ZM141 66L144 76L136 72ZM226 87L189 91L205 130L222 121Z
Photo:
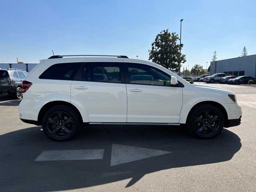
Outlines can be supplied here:
M73 80L81 63L58 63L50 66L40 79Z

